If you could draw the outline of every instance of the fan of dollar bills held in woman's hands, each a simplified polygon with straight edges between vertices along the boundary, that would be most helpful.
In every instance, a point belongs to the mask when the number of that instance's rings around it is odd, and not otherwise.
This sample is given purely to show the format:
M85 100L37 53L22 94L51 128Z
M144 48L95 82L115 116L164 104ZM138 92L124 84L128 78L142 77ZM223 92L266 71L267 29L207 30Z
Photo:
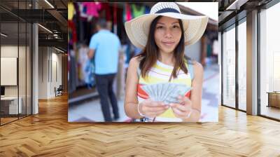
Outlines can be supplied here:
M178 96L186 95L192 89L186 84L179 83L157 83L142 86L142 88L151 100L165 102L165 104L179 103Z

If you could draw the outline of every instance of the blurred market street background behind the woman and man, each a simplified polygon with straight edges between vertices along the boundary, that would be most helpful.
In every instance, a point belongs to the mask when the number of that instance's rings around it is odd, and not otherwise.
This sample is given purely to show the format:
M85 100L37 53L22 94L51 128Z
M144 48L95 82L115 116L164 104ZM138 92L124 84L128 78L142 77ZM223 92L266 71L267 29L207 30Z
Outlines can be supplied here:
M100 3L69 2L68 4L68 91L69 122L104 121L99 95L93 77L94 68L88 68L87 57L90 38L97 32L96 22L104 18L111 32L118 35L121 52L118 73L113 90L118 99L120 118L118 122L130 122L125 115L125 78L130 59L141 49L130 43L124 23L139 15L150 13L155 3ZM180 2L181 13L188 15L208 15L209 22L202 38L197 43L186 46L185 53L204 67L202 90L202 112L200 121L218 121L218 104L221 95L220 55L218 43L218 2ZM90 8L90 9L89 9ZM93 66L93 65L91 65Z

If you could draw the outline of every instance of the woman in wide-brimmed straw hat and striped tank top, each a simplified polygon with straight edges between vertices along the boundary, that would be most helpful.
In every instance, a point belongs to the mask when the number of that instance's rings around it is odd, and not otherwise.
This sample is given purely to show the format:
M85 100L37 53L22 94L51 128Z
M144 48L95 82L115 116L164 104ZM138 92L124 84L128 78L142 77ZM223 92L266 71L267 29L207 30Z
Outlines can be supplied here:
M199 121L203 68L184 57L185 46L200 39L208 17L183 15L173 2L160 2L151 13L125 23L127 35L142 52L130 60L127 70L125 113L148 121ZM181 83L191 92L178 95L177 103L152 100L143 86Z

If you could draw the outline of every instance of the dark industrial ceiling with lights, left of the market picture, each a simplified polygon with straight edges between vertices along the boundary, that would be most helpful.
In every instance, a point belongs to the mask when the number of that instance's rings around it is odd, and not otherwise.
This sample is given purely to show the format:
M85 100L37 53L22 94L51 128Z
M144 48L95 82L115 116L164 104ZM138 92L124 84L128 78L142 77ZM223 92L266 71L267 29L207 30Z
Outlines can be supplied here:
M35 22L51 31L38 27L39 46L55 46L67 50L67 3L67 0L1 0L1 32L8 34L5 41L1 42L18 43L20 39L21 43L28 39L26 36L31 31L25 30L25 22ZM18 22L19 25L15 25ZM30 28L28 26L27 29Z

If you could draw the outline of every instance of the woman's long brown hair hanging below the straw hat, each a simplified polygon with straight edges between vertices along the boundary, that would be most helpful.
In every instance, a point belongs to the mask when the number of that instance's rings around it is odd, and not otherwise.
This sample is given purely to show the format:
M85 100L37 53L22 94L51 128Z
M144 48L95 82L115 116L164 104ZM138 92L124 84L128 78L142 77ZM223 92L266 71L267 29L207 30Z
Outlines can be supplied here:
M151 69L151 67L153 67L153 65L158 60L159 50L157 44L155 43L155 26L158 20L160 20L160 18L162 18L161 15L155 18L153 22L151 22L151 27L148 34L148 41L146 43L146 47L144 48L144 50L141 51L139 55L137 55L137 57L140 58L139 68L141 69L141 75L143 76L143 78L146 78L147 72ZM181 27L181 32L182 32L181 39L178 45L176 46L176 48L174 49L174 57L176 62L174 65L174 69L172 71L172 75L169 78L169 81L171 81L172 76L174 78L177 77L178 75L177 73L179 72L179 69L182 69L182 71L188 74L188 69L185 64L185 59L190 60L190 58L184 55L185 37L183 31L183 23L180 19L179 19L179 25Z

